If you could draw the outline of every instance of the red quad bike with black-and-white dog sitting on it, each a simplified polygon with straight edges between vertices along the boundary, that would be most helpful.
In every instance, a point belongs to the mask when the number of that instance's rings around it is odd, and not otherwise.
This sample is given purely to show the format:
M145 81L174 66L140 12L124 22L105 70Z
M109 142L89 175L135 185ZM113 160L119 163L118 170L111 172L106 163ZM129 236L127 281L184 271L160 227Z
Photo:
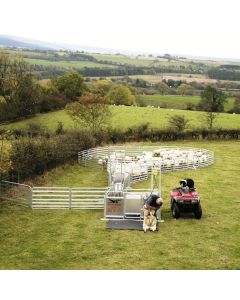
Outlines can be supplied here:
M171 191L171 210L175 219L180 217L181 212L193 212L196 219L201 219L200 197L192 179L181 180L180 187Z

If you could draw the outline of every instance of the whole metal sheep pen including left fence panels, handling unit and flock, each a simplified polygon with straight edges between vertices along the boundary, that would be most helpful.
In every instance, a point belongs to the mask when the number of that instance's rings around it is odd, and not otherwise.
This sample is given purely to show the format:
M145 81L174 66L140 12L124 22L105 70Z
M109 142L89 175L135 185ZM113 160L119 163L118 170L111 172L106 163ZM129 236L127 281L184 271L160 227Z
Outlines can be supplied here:
M17 199L17 203L32 209L104 209L104 219L140 220L146 194L161 196L162 173L209 166L214 154L189 147L111 146L81 151L78 161L105 168L108 186L30 187L2 180L0 196ZM133 183L149 178L148 189L133 188Z

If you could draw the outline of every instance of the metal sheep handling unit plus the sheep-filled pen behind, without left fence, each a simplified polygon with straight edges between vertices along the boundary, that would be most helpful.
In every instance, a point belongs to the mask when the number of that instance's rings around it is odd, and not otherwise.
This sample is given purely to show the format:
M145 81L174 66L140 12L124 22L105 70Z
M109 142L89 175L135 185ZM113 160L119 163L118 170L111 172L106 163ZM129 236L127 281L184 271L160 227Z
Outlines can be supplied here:
M103 218L109 220L108 228L142 230L144 203L151 195L161 198L162 174L209 166L214 163L214 153L188 147L112 146L81 151L78 161L89 166L95 162L108 172ZM148 189L132 187L149 178ZM161 209L156 220L163 222Z

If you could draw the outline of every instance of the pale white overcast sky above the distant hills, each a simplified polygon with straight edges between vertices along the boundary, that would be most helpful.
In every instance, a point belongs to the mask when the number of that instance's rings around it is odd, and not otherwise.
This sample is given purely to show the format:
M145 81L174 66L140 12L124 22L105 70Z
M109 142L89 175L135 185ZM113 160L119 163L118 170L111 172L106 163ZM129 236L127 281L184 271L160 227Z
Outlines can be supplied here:
M239 0L0 0L0 34L240 59Z

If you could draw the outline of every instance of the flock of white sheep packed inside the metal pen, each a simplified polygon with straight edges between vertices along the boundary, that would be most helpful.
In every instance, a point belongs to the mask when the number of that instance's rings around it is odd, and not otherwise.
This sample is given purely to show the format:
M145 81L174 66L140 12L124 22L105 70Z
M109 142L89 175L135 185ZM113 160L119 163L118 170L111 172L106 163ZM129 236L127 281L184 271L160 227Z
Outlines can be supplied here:
M113 176L129 174L130 177L140 177L151 173L152 168L164 171L178 169L194 169L211 163L211 155L206 150L193 148L160 148L153 151L143 151L136 156L125 155L124 152L113 151L109 156L98 160L100 165L106 165ZM118 175L119 176L119 175Z

